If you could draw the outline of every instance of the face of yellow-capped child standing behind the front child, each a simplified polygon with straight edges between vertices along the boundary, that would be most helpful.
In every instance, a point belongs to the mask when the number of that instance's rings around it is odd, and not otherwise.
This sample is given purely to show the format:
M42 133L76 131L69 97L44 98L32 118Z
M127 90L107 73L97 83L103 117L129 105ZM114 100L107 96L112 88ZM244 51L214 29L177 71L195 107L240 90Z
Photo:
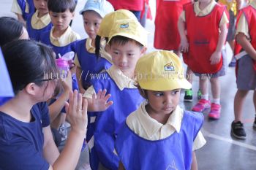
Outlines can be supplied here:
M113 42L108 50L112 56L113 64L128 77L133 76L136 63L145 51L145 47L140 47L134 41L129 41L125 45Z

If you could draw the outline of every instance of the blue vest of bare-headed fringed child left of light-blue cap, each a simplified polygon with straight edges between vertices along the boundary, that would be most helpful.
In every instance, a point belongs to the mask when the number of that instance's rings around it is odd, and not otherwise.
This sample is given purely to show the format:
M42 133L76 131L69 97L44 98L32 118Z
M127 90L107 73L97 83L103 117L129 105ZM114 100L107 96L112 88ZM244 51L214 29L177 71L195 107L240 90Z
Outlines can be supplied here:
M50 47L53 48L53 51L56 54L56 59L59 58L59 54L62 56L70 51L75 52L75 46L76 46L76 42L77 42L77 41L75 41L75 42L71 42L69 45L66 45L63 47L57 47L50 42L50 31L43 32L40 35L39 41L44 43L45 45L49 45ZM75 74L72 75L72 88L73 88L73 90L78 90L78 81L77 81Z

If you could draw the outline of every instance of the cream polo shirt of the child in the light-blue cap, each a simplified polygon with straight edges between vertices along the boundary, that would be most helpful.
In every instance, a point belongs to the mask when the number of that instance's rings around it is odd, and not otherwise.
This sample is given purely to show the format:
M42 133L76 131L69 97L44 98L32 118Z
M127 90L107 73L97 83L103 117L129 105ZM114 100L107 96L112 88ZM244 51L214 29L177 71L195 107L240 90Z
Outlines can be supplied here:
M91 41L92 41L92 39L90 39L90 38L86 39L86 50L89 53L95 53L95 47L91 45ZM101 42L101 44L102 44L102 47L105 47L106 43L104 41L104 42ZM100 53L100 57L105 58L107 61L112 63L111 55L105 51L105 48L100 49L99 53ZM74 63L75 63L76 66L81 68L81 65L80 65L80 63L78 61L78 55L77 54L75 54L75 61L74 61Z

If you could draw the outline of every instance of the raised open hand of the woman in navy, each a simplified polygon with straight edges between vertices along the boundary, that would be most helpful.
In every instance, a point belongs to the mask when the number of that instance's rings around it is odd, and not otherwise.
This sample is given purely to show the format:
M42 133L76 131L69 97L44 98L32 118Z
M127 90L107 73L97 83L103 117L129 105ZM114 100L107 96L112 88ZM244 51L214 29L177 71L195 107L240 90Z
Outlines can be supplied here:
M69 104L66 104L67 118L73 131L86 134L87 127L87 100L78 90L69 93Z

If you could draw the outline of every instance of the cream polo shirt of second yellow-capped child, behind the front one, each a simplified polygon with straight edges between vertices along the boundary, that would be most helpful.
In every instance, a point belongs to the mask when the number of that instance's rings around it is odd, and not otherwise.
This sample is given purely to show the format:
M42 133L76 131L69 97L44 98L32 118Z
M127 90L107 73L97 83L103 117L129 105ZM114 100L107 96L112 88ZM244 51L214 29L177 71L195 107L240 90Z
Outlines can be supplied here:
M110 69L108 69L106 72L108 72L109 76L114 80L114 82L116 82L119 90L124 90L124 88L137 88L135 86L135 80L132 80L131 78L125 76L123 72L121 72L121 70L118 69L116 66L111 66ZM83 97L92 98L93 94L96 94L96 92L94 90L94 87L91 85L86 90L86 93L83 94Z

